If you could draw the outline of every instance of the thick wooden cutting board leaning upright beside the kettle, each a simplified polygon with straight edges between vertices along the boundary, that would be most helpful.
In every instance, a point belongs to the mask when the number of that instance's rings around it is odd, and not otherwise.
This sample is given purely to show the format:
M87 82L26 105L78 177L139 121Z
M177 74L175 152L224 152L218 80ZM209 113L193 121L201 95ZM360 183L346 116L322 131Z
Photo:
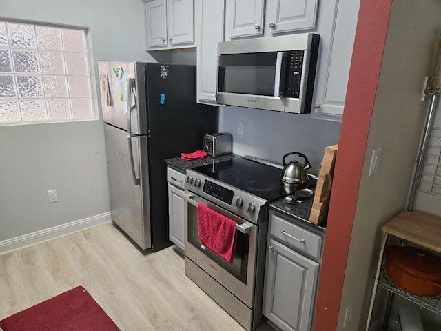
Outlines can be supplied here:
M314 201L312 202L311 214L309 215L309 221L316 225L324 223L327 219L337 150L338 145L325 148L320 170L318 170L316 191L314 192Z

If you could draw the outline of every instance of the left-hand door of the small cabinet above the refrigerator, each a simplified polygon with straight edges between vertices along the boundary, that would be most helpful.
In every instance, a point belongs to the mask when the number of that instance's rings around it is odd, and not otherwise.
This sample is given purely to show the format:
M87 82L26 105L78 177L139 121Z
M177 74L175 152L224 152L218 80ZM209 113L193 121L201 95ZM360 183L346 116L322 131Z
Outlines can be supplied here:
M165 0L144 3L145 43L149 48L167 46L167 8Z

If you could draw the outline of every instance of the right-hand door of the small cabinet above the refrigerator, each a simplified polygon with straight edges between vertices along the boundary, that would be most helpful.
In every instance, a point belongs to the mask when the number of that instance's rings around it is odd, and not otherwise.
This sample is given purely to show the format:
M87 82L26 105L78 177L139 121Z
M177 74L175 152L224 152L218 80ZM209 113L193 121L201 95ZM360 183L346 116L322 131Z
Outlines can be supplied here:
M193 0L167 0L170 46L194 42Z

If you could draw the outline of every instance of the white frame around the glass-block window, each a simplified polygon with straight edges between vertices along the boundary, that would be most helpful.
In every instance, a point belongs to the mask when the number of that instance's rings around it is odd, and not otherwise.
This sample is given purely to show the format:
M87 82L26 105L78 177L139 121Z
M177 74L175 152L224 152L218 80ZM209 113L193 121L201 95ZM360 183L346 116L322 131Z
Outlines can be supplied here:
M76 25L72 25L72 24L65 24L65 23L52 23L52 22L45 22L45 21L34 21L34 20L28 20L28 19L15 19L15 18L10 18L10 17L2 17L0 16L0 21L3 21L5 23L17 23L17 24L32 24L34 26L44 26L44 27L48 27L48 28L60 28L60 29L72 29L72 30L82 30L84 32L84 39L85 39L85 57L88 61L88 79L90 81L90 103L91 103L91 110L92 110L92 116L89 118L70 118L70 119L45 119L45 120L38 120L38 121L0 121L0 128L3 126L26 126L26 125L34 125L34 124L52 124L52 123L75 123L75 122L83 122L83 121L99 121L101 119L101 115L100 115L100 108L99 108L99 96L96 90L96 73L95 73L95 63L94 63L94 56L93 56L93 52L92 52L92 37L91 37L91 32L90 32L90 27L89 26L76 26ZM11 46L9 45L7 47L8 50L12 50L12 49L17 49L17 48L11 48ZM45 51L45 50L40 50L38 47L37 48L23 48L23 50L34 50L36 52L41 52L41 51ZM65 50L61 50L59 52L62 52L63 54L65 54ZM12 63L12 53L11 53L11 66L13 66ZM40 61L40 60L39 60ZM39 65L41 66L41 63L39 63ZM40 77L42 78L42 88L43 87L43 74L40 70L40 72L38 73L40 75ZM15 79L15 77L17 77L15 75L15 72L12 72L12 75ZM68 78L68 73L65 72L65 74L63 74L63 77ZM18 90L17 90L18 93ZM19 100L19 96L17 94L17 98ZM32 99L32 98L29 98ZM45 96L43 98L34 98L34 99L43 99L46 102L46 99L50 99L46 98ZM67 99L69 99L69 102L71 100L70 95L67 97ZM2 99L2 100L7 100L7 99ZM47 109L46 109L47 110ZM21 112L21 110L20 110Z

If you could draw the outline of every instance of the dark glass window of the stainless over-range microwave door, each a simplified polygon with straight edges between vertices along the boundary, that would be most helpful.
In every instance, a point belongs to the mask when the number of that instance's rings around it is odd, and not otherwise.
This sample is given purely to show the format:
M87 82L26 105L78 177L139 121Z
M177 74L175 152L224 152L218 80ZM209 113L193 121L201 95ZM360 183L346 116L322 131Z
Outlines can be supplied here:
M219 58L219 92L274 96L277 52L227 54Z

